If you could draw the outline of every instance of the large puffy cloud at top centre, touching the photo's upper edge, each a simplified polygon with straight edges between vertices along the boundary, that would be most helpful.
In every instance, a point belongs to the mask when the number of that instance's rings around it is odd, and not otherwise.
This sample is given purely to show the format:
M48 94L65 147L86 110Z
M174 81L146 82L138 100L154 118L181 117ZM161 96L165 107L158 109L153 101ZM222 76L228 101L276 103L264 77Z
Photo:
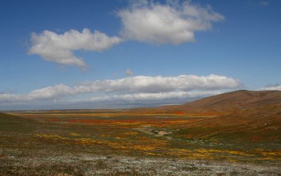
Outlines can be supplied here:
M196 31L211 29L212 22L224 19L223 15L190 1L166 4L154 1L136 1L117 13L122 20L124 39L146 43L180 44L194 41Z

